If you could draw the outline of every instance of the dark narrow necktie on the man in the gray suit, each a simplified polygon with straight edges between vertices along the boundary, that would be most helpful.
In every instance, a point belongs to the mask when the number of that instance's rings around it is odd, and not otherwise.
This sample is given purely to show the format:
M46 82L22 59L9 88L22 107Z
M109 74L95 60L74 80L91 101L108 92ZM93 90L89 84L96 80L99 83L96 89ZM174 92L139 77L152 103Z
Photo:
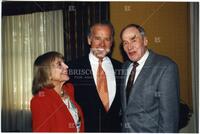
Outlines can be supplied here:
M135 78L135 73L136 73L136 67L139 64L137 62L133 63L133 68L131 70L131 74L129 75L127 86L126 86L126 102L128 103L129 95L133 86L134 78Z

